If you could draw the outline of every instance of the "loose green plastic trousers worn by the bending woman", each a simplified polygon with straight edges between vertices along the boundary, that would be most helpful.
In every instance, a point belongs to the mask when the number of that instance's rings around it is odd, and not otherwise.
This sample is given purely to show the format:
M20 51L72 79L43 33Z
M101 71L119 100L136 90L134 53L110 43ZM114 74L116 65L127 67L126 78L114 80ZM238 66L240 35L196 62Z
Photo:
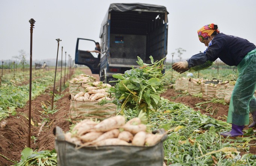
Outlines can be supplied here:
M228 123L249 124L249 112L256 111L256 49L250 51L237 66L239 75L228 110Z

